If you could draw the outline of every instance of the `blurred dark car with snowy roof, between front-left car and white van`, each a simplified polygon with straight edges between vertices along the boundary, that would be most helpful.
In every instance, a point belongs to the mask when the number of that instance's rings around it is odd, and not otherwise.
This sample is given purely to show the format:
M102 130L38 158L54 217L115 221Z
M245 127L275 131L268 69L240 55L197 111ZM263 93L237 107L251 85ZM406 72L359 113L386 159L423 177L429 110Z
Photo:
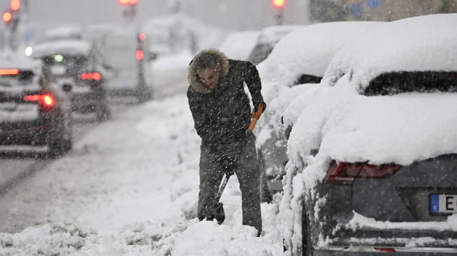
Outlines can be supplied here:
M75 83L71 93L74 111L94 113L99 120L111 116L106 90L109 72L92 42L46 41L35 46L31 57L42 60L46 79Z

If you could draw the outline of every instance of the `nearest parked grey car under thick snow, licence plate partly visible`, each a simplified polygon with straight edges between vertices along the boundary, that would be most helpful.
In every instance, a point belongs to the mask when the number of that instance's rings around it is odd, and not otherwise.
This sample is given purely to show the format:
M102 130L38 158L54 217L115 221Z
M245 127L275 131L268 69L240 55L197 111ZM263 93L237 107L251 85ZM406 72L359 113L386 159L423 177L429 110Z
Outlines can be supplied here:
M286 255L457 254L454 24L389 22L335 55L288 140Z

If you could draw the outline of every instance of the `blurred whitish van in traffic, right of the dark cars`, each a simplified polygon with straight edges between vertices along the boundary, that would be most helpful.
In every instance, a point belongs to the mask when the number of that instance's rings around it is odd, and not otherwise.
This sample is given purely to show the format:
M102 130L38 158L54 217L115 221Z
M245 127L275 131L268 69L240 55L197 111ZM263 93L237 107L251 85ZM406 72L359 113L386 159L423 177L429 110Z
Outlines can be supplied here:
M84 38L95 44L100 61L108 71L108 93L113 96L133 96L144 102L152 98L149 62L156 55L147 51L146 34L134 31L134 28L119 25L90 25L84 30Z

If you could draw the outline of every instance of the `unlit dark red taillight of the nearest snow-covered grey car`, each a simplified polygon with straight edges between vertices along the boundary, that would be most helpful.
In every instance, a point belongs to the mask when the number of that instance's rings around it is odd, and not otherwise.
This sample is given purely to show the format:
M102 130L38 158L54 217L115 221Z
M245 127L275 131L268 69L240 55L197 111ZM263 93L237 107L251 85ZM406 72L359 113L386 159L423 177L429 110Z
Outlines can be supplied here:
M325 177L325 183L351 185L355 178L389 178L399 169L397 164L373 165L368 163L347 163L334 161Z

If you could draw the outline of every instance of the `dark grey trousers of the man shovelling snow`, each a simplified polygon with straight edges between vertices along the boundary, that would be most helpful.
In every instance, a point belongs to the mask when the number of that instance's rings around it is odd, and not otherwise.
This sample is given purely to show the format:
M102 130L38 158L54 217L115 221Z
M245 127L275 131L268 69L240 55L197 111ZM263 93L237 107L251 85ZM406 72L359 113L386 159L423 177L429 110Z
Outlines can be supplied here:
M260 214L260 165L255 150L255 137L250 134L235 164L235 173L240 183L243 225L257 229L258 235L262 232L262 216ZM219 147L224 152L233 152L234 145L226 144ZM197 216L205 219L211 216L214 198L221 184L224 170L216 161L216 155L210 145L202 143L200 155L200 192Z

